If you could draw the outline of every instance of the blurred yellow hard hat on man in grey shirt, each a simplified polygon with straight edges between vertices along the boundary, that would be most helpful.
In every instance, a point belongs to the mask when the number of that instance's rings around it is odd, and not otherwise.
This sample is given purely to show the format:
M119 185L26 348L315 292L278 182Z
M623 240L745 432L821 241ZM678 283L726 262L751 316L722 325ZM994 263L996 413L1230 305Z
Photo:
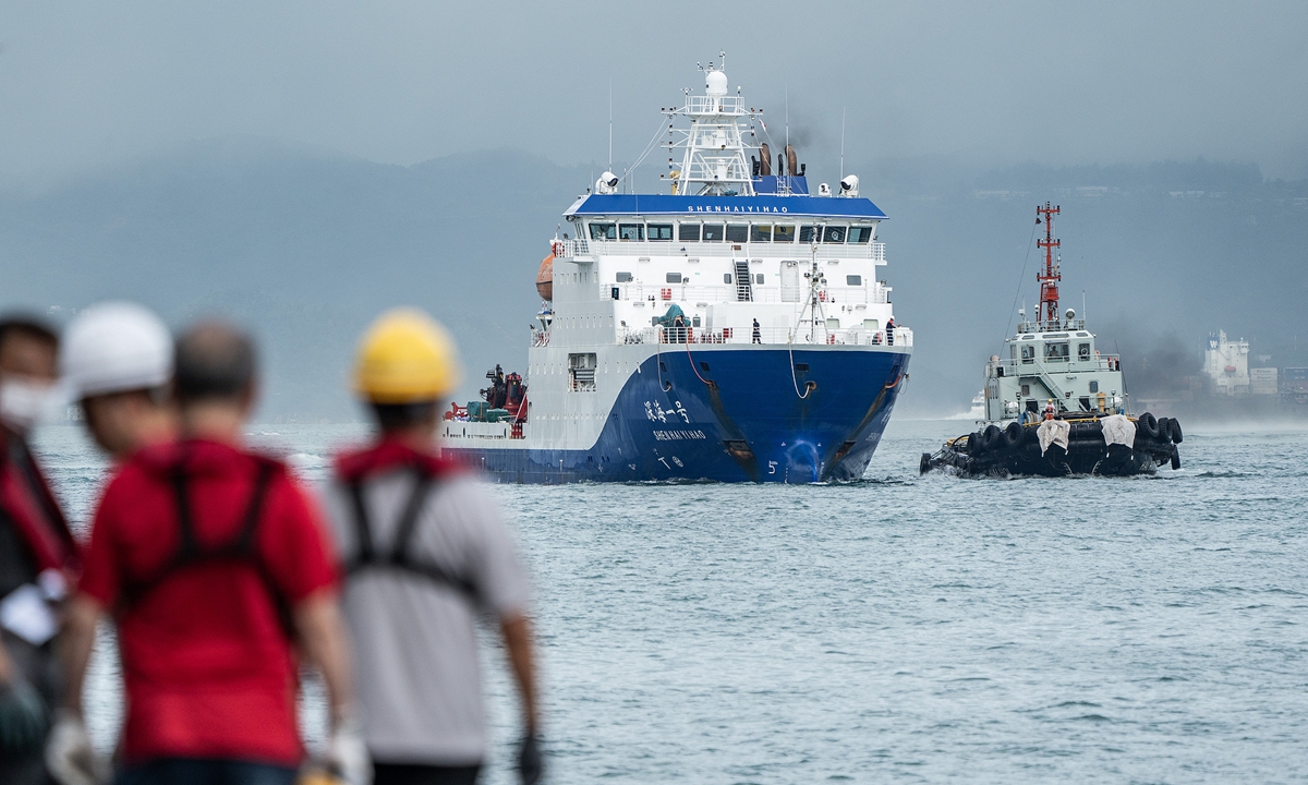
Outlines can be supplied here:
M420 403L459 383L454 340L417 309L388 310L373 322L354 361L354 391L373 403Z

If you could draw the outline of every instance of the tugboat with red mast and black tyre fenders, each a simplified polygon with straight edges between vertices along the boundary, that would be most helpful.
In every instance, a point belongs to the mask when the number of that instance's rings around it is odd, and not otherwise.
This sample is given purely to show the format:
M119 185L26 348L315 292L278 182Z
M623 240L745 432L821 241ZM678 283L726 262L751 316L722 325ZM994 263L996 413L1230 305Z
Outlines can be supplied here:
M1045 254L1036 273L1040 306L1035 322L1025 309L1018 311L1018 332L1005 340L1007 356L986 364L981 428L922 453L921 474L1126 476L1181 467L1181 424L1150 412L1131 416L1118 357L1100 355L1073 309L1059 317L1059 212L1048 201L1036 208L1036 222L1045 225L1037 241Z

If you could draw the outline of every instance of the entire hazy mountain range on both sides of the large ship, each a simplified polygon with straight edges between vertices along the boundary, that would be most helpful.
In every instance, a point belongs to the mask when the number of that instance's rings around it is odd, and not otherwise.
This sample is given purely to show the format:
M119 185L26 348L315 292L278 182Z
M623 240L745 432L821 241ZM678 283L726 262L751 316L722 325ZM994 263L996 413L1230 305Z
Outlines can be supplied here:
M1198 345L1219 327L1274 357L1308 343L1308 182L1206 161L846 171L889 213L884 276L917 334L909 413L965 410L1015 296L1033 309L1046 199L1063 208L1063 306L1079 311L1084 290L1103 345L1127 364L1163 336ZM266 351L263 416L339 420L356 415L345 375L358 334L412 304L458 338L470 396L496 362L522 368L536 266L593 174L513 150L405 167L201 141L41 192L0 190L0 305L68 313L131 297L175 324L234 315Z

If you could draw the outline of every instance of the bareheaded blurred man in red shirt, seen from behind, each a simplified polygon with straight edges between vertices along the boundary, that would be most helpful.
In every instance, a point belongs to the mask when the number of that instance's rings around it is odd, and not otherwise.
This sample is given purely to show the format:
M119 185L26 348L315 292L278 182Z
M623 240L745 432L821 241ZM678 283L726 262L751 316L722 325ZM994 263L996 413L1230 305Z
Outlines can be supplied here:
M294 645L323 674L328 756L364 785L327 532L286 467L243 446L251 341L222 323L190 330L173 394L181 440L132 454L95 510L51 771L68 785L97 777L81 688L95 623L111 612L127 699L120 785L293 782L303 758Z

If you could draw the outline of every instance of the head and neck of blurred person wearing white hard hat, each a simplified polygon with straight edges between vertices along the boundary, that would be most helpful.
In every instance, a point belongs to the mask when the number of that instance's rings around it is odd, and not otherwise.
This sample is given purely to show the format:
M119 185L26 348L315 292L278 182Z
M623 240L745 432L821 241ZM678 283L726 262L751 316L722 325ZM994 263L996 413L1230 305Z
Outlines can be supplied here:
M132 302L86 309L64 331L59 365L86 430L115 461L177 437L173 336L149 310Z

